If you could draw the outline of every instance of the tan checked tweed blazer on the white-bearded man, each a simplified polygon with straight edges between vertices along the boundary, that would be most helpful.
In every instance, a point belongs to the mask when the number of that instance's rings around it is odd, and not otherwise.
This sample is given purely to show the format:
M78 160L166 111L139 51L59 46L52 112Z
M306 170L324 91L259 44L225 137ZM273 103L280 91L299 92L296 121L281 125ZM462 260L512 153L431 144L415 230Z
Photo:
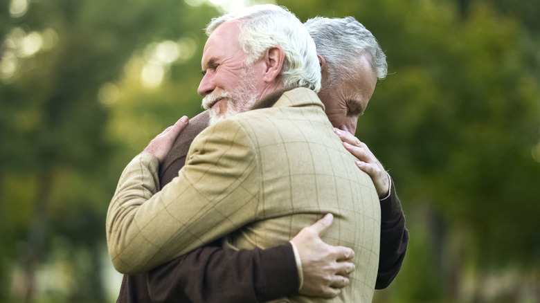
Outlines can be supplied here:
M223 237L237 248L283 244L332 212L323 240L353 248L357 266L351 285L332 302L371 302L379 198L313 91L287 91L271 108L208 127L193 141L179 176L160 192L158 167L154 156L136 156L109 206L107 244L121 273L144 272ZM280 302L289 300L314 302L302 296Z

